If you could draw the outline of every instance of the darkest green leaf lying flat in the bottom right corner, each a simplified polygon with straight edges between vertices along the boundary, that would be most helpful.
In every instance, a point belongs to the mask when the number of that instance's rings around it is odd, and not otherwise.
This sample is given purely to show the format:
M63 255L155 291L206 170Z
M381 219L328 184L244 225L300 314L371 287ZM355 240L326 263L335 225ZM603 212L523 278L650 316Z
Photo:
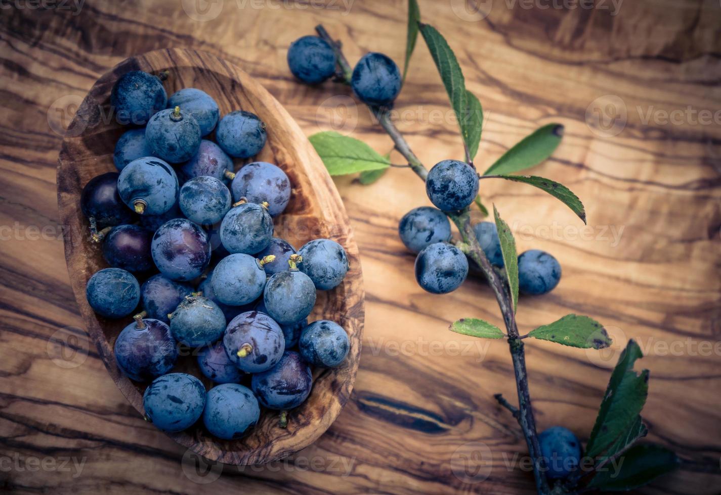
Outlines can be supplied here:
M628 491L650 483L658 476L678 468L681 461L675 453L660 445L634 445L616 460L601 468L588 488L601 491Z

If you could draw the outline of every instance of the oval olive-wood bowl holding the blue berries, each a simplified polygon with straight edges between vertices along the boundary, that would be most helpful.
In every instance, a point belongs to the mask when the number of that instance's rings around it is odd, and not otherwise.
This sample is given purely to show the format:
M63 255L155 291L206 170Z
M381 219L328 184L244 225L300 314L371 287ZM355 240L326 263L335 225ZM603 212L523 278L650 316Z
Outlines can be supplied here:
M309 318L331 319L348 332L350 351L340 368L314 371L309 398L288 414L288 427L278 427L278 412L264 411L252 432L240 440L219 440L205 431L202 420L189 430L169 434L181 445L221 463L246 465L267 463L295 453L322 435L348 400L363 331L363 279L358 247L353 241L348 216L328 173L298 124L278 101L234 65L208 53L193 50L156 50L128 58L99 78L68 127L58 165L58 206L64 229L65 257L70 280L88 333L100 358L120 391L141 416L147 383L131 381L115 363L113 345L131 317L110 320L99 317L85 299L85 285L93 273L107 268L100 245L89 240L89 224L80 211L80 193L94 176L115 171L112 153L125 128L115 122L110 108L110 89L128 71L169 71L164 81L168 95L180 88L200 88L213 96L221 116L237 109L257 114L267 124L267 144L255 160L283 168L291 179L293 194L283 215L275 219L275 235L296 248L319 237L333 239L345 247L350 271L332 291L319 291L316 308ZM241 163L236 163L236 168ZM142 280L141 280L142 283ZM188 351L173 371L203 378L195 354ZM210 381L204 380L208 389Z

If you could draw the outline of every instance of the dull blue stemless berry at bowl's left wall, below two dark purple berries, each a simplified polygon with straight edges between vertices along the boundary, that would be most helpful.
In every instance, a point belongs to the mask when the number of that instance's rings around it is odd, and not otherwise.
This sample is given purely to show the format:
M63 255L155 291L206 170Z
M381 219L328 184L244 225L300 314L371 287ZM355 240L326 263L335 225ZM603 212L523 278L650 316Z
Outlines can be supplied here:
M122 318L138 307L140 286L132 273L121 268L105 268L90 277L85 296L100 316Z

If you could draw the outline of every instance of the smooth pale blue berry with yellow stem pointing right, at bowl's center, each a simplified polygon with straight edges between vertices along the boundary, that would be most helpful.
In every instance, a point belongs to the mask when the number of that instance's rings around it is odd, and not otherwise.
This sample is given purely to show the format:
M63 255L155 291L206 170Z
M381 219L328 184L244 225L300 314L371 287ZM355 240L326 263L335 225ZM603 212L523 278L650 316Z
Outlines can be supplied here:
M249 304L260 297L267 278L264 260L242 253L223 258L213 269L213 293L230 306Z

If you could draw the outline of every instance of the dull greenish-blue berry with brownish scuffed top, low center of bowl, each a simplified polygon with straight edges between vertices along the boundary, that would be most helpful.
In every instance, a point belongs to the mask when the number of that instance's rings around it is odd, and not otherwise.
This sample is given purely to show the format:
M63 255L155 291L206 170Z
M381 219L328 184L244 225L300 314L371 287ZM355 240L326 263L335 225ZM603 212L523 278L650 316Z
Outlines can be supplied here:
M221 309L203 296L186 297L170 317L170 332L174 339L191 348L216 342L225 327L225 315Z

